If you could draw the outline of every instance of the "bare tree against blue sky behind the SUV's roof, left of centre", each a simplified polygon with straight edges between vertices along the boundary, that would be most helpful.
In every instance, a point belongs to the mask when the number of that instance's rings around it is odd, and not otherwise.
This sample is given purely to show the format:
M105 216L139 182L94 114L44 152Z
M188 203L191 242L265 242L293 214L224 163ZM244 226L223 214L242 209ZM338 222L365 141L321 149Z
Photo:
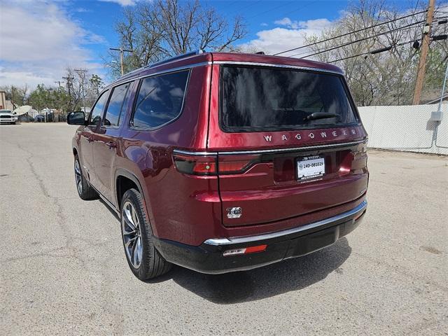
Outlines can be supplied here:
M133 50L125 56L125 72L160 59L190 50L233 51L234 43L246 35L241 18L230 24L214 8L198 0L141 1L124 10L124 19L116 24L123 48ZM109 52L107 62L112 76L120 73L118 55Z

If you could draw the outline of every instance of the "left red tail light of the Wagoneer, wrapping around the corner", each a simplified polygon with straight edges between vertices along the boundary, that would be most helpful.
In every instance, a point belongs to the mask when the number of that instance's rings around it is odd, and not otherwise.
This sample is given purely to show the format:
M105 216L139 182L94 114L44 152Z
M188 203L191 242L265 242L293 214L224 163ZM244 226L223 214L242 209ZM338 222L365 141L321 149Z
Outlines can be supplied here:
M242 174L255 163L260 155L192 155L173 153L176 169L190 175Z

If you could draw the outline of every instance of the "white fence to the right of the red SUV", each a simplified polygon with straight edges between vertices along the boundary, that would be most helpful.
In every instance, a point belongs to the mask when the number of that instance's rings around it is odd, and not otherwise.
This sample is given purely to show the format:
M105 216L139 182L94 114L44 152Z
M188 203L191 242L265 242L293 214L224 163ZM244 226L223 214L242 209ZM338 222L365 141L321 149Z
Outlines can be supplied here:
M430 120L437 104L358 107L371 148L448 155L448 104L443 119Z

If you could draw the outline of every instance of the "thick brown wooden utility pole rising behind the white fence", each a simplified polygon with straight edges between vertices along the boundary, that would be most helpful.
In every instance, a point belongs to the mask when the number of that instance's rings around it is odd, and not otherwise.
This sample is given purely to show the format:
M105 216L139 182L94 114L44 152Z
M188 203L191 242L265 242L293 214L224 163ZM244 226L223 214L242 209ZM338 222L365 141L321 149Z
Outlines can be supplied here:
M428 57L429 39L431 32L431 24L433 23L435 0L429 0L428 11L426 12L426 25L423 28L423 41L421 43L421 53L419 59L419 67L417 69L417 78L415 80L414 99L412 105L420 103L421 90L423 89L423 82L426 73L426 57Z

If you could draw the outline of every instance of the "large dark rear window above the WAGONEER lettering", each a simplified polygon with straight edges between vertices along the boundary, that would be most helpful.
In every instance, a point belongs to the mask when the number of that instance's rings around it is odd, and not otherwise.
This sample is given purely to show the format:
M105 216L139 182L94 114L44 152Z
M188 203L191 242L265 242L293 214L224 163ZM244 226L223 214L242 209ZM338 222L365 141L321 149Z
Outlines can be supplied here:
M306 120L311 113L336 114ZM325 128L358 123L341 76L330 73L223 66L221 127L227 132Z

